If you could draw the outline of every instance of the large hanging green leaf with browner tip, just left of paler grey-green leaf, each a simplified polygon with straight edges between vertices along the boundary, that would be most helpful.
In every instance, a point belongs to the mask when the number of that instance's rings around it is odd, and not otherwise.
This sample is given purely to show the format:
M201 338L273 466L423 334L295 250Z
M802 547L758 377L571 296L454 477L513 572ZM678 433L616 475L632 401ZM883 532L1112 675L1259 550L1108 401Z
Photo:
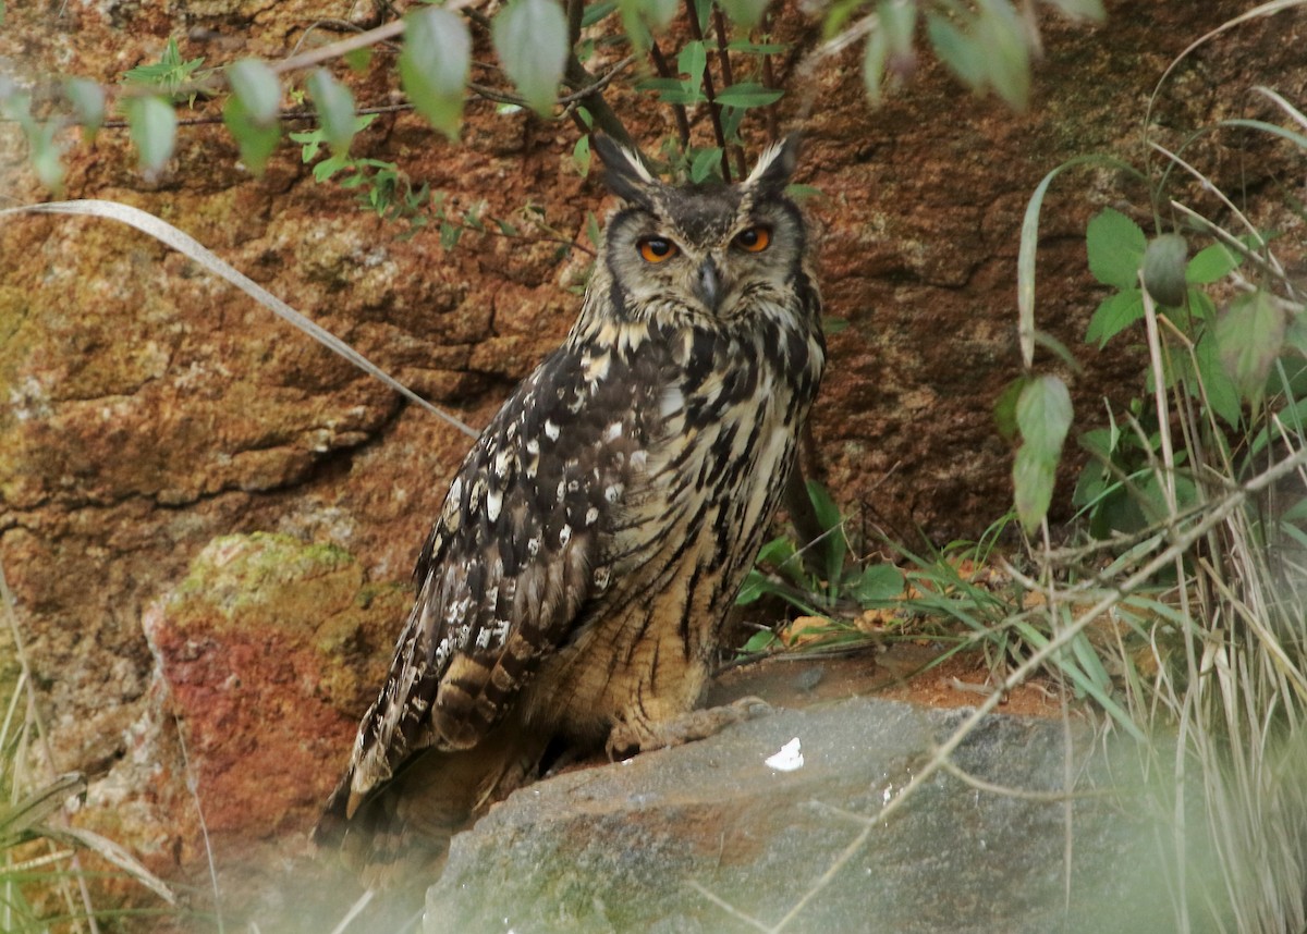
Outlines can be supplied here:
M406 20L400 84L417 112L455 140L463 119L463 89L472 68L468 26L447 9L412 10Z

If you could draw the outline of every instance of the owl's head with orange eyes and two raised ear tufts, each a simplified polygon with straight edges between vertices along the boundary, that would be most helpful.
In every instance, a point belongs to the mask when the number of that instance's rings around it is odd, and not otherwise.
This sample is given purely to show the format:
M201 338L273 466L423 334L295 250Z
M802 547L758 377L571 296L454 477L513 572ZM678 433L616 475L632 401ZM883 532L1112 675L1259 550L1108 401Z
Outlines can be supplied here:
M610 138L592 145L623 202L608 219L604 260L627 307L732 319L792 295L806 250L802 214L786 197L797 135L735 185L668 185Z

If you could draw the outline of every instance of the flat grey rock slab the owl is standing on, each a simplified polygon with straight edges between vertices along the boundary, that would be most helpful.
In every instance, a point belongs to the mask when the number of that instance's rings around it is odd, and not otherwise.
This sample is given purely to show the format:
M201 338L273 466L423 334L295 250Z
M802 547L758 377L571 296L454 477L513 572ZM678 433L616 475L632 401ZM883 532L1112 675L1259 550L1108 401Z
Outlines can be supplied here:
M455 837L423 930L723 933L787 918L787 931L1170 929L1142 797L1124 820L1119 798L1074 799L1070 866L1061 802L948 775L867 824L967 713L873 699L783 711L523 789ZM1104 763L1077 733L1084 793ZM802 765L769 765L795 738ZM1057 721L991 716L954 762L982 781L1056 793L1063 751ZM1114 773L1117 789L1131 772Z

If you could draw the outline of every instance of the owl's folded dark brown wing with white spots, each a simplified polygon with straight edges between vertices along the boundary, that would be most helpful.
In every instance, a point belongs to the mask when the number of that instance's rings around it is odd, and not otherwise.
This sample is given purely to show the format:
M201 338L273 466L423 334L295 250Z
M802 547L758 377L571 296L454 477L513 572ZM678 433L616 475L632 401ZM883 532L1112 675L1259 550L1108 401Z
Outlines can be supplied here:
M353 816L414 752L476 746L608 587L608 543L647 436L639 396L656 384L625 375L609 354L565 345L468 453L328 811Z

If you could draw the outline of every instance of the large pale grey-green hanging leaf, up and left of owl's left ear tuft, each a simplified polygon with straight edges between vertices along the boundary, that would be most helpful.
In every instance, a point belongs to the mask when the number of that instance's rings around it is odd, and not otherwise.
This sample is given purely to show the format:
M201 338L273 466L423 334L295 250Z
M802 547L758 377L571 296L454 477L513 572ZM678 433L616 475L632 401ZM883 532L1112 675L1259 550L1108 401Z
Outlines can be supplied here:
M549 116L567 61L567 17L555 0L508 0L494 18L494 47L527 105Z

